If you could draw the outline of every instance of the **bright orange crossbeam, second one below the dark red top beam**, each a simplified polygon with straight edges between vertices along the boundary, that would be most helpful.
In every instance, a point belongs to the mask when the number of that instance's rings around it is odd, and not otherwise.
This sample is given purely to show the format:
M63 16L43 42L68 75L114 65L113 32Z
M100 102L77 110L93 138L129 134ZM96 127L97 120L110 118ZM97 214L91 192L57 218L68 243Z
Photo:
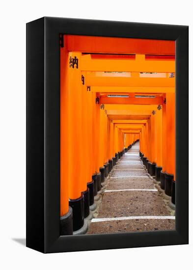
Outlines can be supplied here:
M144 87L159 87L156 88L155 91L157 90L158 93L160 90L160 87L175 87L175 78L130 78L130 77L92 77L88 76L86 77L86 85L91 86L91 91L93 92L103 92L102 89L97 89L94 88L93 86L105 86L105 87L112 87L110 88L104 88L105 92L119 92L119 88L121 92L146 92L147 89ZM122 86L129 86L129 87L137 87L137 88L131 88L131 89L126 89L122 88ZM93 89L92 89L93 88ZM144 89L144 90L143 90ZM150 89L149 89L150 90ZM170 90L170 89L168 89ZM166 89L165 89L166 91Z

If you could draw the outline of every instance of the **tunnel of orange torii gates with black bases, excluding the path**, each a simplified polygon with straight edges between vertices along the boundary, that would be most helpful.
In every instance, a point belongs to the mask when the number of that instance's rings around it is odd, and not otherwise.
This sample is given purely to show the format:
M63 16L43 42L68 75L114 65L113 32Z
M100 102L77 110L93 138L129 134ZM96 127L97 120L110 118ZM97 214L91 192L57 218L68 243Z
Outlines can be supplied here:
M61 235L84 226L101 183L137 141L175 203L174 77L173 41L60 35Z

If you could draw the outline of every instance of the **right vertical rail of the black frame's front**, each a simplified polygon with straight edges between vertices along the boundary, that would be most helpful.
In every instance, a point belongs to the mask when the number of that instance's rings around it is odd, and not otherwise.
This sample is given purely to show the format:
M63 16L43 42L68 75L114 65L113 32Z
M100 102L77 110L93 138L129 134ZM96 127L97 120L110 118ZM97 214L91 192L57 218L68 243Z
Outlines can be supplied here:
M189 27L176 39L176 230L189 243Z

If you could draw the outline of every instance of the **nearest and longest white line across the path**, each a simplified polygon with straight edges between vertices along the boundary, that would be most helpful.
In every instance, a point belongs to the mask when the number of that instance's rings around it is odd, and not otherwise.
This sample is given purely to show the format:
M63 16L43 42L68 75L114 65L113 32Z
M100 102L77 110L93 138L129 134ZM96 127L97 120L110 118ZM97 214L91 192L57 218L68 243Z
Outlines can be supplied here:
M92 218L91 222L127 220L127 219L175 219L175 216L120 216L106 218Z

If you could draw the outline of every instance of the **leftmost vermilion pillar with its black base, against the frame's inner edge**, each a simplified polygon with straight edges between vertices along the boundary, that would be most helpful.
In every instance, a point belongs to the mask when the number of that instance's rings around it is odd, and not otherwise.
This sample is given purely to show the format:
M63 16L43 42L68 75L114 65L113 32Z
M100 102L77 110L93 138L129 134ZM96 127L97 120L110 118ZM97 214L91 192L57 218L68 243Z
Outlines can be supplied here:
M64 37L63 37L64 38ZM65 40L64 40L65 43ZM69 207L69 56L60 47L60 235L72 235L72 208Z

